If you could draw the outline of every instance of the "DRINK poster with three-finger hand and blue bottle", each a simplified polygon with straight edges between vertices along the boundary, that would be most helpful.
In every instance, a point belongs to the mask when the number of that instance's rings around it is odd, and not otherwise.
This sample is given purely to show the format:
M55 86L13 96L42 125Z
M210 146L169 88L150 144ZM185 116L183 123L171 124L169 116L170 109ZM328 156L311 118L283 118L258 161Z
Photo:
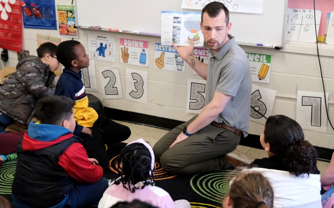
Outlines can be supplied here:
M120 38L120 62L138 66L149 66L149 42Z

